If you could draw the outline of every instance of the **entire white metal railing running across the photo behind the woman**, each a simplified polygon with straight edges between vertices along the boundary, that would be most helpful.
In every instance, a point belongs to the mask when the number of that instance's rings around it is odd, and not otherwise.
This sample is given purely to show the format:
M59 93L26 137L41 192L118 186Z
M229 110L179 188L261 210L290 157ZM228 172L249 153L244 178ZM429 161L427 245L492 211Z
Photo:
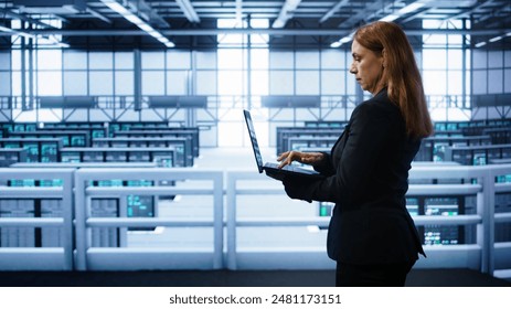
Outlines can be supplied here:
M511 222L511 213L494 213L496 193L511 192L511 183L494 183L497 175L511 174L511 164L461 167L461 166L414 166L411 181L420 179L465 179L464 184L411 184L408 195L427 196L476 196L473 214L455 216L414 216L417 226L455 225L477 226L476 243L460 245L425 246L428 258L420 258L417 268L471 268L494 274L494 270L511 268L511 243L494 243L496 223ZM74 175L74 184L73 184ZM0 219L0 227L8 226L60 226L65 230L63 248L0 248L2 269L272 269L317 268L330 269L334 263L328 259L326 242L308 242L306 245L268 246L264 242L253 247L239 246L241 228L292 228L316 226L318 231L328 227L329 219L316 214L295 216L279 215L281 210L264 217L239 216L239 199L244 195L275 195L277 201L287 201L283 187L265 175L247 171L202 169L1 169L0 180L17 179L63 179L62 188L10 188L0 187L0 199L62 199L65 207L63 217L47 219ZM152 187L91 187L91 181L100 180L147 180ZM224 191L224 179L226 188ZM471 180L477 180L472 183ZM161 181L175 182L175 187L159 187ZM196 183L195 183L196 182ZM260 183L262 185L259 185ZM183 185L182 185L183 184ZM73 187L74 185L74 187ZM74 188L74 200L72 190ZM93 199L118 199L126 201L130 194L140 195L201 195L212 198L212 215L198 217L95 217L91 215ZM226 216L224 217L224 198ZM268 199L262 199L267 201ZM273 200L273 199L269 199ZM74 201L74 203L72 202ZM119 202L126 207L126 202ZM74 233L72 205L74 204ZM209 205L207 205L209 206ZM278 205L277 205L278 206ZM68 210L68 212L67 212ZM185 248L171 247L97 247L91 242L93 228L111 227L212 227L211 246ZM224 244L224 228L226 243ZM262 230L263 231L263 230ZM74 259L71 235L75 235ZM319 237L320 238L320 237ZM392 241L392 239L388 239ZM225 245L225 246L224 246ZM29 254L26 254L29 253Z

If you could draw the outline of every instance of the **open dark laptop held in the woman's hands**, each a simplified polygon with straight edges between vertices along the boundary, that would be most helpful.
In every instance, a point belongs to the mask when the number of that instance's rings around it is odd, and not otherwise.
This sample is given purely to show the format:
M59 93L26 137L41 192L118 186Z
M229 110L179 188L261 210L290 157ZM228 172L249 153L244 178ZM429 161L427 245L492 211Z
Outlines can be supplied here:
M259 173L263 173L263 171L266 171L266 174L268 177L277 179L277 180L283 180L284 177L286 175L307 177L307 178L316 178L316 179L324 178L324 175L313 170L302 169L302 168L295 167L295 166L285 166L284 168L279 169L278 168L279 164L277 163L270 163L270 162L264 163L263 157L260 156L259 145L257 143L257 138L255 135L254 122L252 121L251 111L245 109L243 110L243 114L245 116L246 127L248 129L248 135L251 137L251 142L252 142L252 149L254 150L254 156L256 159L257 169L259 170Z

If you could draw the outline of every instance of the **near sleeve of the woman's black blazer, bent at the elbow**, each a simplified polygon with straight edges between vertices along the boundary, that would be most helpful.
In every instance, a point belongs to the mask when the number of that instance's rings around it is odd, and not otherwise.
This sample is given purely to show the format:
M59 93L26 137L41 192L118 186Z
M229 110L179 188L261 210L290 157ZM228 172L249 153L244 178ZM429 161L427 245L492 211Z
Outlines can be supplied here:
M368 194L371 172L393 134L388 109L377 104L362 104L353 110L342 156L339 162L333 162L336 173L309 183L304 191L306 198L350 205Z

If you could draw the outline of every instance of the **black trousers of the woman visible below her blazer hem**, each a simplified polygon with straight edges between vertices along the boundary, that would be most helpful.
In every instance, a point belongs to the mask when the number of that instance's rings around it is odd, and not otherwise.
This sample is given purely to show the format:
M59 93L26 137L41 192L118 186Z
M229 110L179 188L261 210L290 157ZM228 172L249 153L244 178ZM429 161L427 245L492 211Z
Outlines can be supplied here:
M337 263L338 287L404 287L414 262L355 265Z

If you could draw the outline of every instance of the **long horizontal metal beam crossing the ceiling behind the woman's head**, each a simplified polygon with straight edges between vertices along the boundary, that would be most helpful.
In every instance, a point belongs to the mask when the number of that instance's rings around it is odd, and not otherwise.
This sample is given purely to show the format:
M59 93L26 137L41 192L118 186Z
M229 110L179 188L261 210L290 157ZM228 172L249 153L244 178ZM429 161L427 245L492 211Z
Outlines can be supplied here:
M139 30L24 30L26 33L34 35L50 35L58 34L64 36L138 36L147 35L146 32ZM352 29L167 29L160 30L164 35L219 35L219 34L269 34L269 35L311 35L311 36L329 36L329 35L345 35ZM498 35L509 32L509 29L417 29L406 30L407 35L423 35L423 34L466 34L466 35ZM0 33L0 35L11 35L9 33Z

